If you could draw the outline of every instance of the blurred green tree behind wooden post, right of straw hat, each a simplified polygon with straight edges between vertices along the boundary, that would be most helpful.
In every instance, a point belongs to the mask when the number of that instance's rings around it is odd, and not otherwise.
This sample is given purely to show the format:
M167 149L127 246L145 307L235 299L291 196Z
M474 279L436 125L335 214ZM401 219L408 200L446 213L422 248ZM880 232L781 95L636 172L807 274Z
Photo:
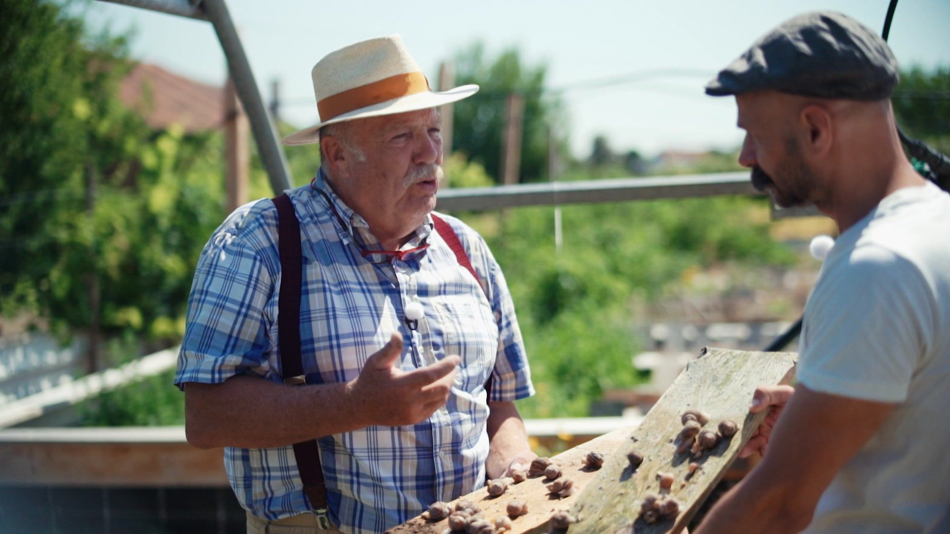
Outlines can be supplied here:
M479 162L499 180L505 99L520 94L524 99L522 137L523 181L546 177L548 127L561 123L561 102L545 96L547 67L525 65L517 48L486 57L485 46L476 43L455 54L456 83L478 84L481 90L454 105L453 147L469 160ZM562 142L561 142L562 143Z

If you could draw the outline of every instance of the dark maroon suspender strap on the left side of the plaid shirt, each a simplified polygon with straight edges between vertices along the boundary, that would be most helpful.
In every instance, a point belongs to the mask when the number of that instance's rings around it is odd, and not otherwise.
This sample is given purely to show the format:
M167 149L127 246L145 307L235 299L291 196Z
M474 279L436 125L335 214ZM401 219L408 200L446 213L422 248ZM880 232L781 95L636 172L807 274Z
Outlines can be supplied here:
M284 383L298 386L307 383L300 358L300 293L303 257L300 254L300 224L290 197L275 197L277 207L277 250L280 252L280 296L277 299L277 329L280 339L280 368ZM303 491L317 515L327 513L327 488L320 466L320 450L316 440L294 444L294 456Z

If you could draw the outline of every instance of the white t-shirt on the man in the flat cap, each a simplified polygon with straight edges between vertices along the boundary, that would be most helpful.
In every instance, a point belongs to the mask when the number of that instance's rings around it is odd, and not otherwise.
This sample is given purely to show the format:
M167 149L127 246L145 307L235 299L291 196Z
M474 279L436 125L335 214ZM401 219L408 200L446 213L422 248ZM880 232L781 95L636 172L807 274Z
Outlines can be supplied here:
M807 532L950 532L950 195L900 189L838 238L800 353L809 390L897 404Z

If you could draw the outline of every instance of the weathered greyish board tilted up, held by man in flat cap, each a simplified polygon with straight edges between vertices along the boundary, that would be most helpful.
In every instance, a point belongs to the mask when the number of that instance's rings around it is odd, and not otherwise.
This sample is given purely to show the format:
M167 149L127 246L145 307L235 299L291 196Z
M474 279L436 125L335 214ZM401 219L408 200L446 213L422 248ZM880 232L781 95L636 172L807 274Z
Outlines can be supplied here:
M616 450L606 459L594 480L577 496L571 514L579 522L570 527L575 533L661 533L679 531L689 524L696 510L722 478L749 441L765 413L752 416L749 405L752 392L765 384L788 384L795 374L795 353L748 353L722 349L703 349L698 359L687 365L656 406L632 432L630 441L637 442ZM680 415L686 410L703 410L711 421L705 429L716 429L719 421L729 419L739 425L730 439L722 440L698 460L687 454L676 454L674 440L682 424ZM637 448L643 463L632 471L627 452ZM687 467L695 461L700 465L687 479ZM680 503L680 513L673 519L646 524L639 515L642 498L661 492L656 473L670 472L675 482L669 495Z

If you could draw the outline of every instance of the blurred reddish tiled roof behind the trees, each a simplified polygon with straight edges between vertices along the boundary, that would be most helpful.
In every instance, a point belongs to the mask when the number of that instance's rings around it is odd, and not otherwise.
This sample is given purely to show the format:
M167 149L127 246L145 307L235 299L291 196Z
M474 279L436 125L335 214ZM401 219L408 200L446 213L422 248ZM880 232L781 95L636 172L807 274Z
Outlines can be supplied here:
M140 63L123 80L120 98L139 109L148 125L178 123L188 132L219 128L224 122L224 89L206 86L164 68Z

